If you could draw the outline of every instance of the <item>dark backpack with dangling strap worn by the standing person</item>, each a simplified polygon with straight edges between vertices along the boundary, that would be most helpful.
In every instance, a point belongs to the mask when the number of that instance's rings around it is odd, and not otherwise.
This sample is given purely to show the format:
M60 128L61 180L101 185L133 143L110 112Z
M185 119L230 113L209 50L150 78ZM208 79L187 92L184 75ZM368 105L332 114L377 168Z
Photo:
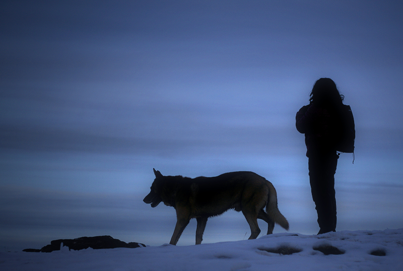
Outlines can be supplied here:
M350 105L343 105L340 114L340 141L337 144L337 151L341 153L354 154L354 141L356 139L356 130L354 125L354 116ZM354 163L354 160L353 160Z

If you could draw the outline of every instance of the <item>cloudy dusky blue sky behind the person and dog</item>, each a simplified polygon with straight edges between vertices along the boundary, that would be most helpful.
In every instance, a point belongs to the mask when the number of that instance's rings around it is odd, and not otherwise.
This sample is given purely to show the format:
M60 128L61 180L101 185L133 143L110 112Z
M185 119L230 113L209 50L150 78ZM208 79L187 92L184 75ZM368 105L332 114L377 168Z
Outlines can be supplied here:
M356 124L354 164L342 154L335 175L337 229L402 228L402 12L396 1L3 1L0 249L168 243L174 209L142 200L153 168L256 172L290 231L316 234L295 114L321 77ZM247 231L231 211L204 242Z

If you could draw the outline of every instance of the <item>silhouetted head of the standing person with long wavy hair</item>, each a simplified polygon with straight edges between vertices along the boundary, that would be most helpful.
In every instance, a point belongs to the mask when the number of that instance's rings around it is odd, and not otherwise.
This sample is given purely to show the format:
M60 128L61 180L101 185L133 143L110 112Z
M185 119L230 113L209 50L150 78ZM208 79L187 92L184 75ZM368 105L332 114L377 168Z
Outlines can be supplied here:
M343 103L344 96L339 93L336 84L330 78L321 78L313 85L309 101L315 104Z

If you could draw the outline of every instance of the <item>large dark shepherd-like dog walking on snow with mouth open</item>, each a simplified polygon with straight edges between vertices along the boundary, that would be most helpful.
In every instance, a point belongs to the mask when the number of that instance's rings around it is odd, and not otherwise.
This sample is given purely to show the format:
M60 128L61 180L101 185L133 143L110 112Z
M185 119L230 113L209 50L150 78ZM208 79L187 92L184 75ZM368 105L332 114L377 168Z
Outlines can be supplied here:
M267 234L272 234L275 223L289 229L287 219L277 207L277 192L273 184L253 172L224 173L216 177L188 178L163 176L154 169L155 180L151 192L143 199L154 208L164 202L176 210L177 222L171 241L176 245L180 235L195 218L196 245L203 240L207 220L234 209L242 212L250 227L249 239L260 233L257 219L267 224ZM266 211L263 208L266 208Z

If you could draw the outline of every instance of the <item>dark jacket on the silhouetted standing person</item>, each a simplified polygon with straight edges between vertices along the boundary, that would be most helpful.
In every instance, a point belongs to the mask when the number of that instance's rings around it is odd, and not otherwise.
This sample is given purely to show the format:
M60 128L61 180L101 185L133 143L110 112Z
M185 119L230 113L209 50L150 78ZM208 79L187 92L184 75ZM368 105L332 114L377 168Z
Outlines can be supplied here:
M309 104L296 115L296 127L305 134L306 156L336 152L340 138L340 118L331 106Z

